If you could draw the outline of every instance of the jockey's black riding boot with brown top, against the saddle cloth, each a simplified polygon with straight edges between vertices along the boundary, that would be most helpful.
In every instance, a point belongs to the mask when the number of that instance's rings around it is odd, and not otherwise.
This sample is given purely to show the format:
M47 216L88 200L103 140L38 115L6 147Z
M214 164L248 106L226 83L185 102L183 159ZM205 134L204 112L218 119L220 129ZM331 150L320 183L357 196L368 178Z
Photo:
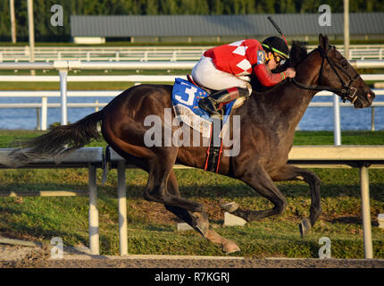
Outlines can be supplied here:
M248 88L227 88L219 90L209 97L202 98L198 101L200 108L204 109L210 116L221 117L221 107L230 103L238 97L249 97Z

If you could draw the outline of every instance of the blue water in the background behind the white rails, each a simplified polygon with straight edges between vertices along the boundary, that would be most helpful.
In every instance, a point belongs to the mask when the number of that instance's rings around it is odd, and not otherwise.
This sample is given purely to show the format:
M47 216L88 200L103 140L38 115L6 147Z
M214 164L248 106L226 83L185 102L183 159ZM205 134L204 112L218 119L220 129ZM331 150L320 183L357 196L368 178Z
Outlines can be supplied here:
M68 103L108 103L113 97L68 97ZM384 96L375 101L384 101ZM0 98L0 103L39 103L40 98L13 97ZM59 103L59 97L48 97L48 103ZM332 97L313 97L313 102L333 102ZM68 108L68 121L76 122L95 108ZM47 126L61 122L60 108L48 108ZM371 108L355 109L340 107L341 130L371 130ZM37 110L35 108L0 109L0 129L37 129ZM308 107L298 125L300 130L333 130L333 107ZM384 107L375 108L375 130L384 130Z

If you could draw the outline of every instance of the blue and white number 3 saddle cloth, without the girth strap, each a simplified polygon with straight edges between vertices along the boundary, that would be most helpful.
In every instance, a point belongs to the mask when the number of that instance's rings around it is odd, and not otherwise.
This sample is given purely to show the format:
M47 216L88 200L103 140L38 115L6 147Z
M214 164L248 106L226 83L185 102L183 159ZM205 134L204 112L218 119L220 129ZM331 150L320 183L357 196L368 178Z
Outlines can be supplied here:
M176 116L179 117L179 120L202 133L205 138L211 137L213 119L210 118L205 110L199 107L198 101L208 96L209 94L203 88L197 87L188 80L179 78L175 80L171 95L173 110ZM222 126L227 122L228 115L230 115L235 102L236 100L224 106Z

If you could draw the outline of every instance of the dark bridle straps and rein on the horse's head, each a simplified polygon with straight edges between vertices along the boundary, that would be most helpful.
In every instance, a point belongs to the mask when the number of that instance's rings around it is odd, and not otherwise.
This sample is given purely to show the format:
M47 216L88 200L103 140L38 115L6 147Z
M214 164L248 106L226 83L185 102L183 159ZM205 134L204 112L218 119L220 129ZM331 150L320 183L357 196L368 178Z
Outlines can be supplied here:
M310 90L319 90L319 91L328 90L330 92L340 94L340 97L343 100L343 102L346 102L346 99L347 99L351 103L355 103L355 101L357 99L357 96L356 96L357 89L353 88L351 86L352 86L352 83L359 77L359 74L357 74L355 76L355 78L352 78L346 71L344 71L340 66L338 66L338 64L334 63L328 55L330 53L330 50L332 49L332 47L333 46L330 46L327 50L324 50L321 46L318 46L318 48L317 48L321 54L321 57L322 57L321 68L320 68L320 72L319 72L319 80L318 80L319 85L308 86L308 85L305 85L301 82L296 81L295 78L292 79L292 81L299 88L305 88L305 89L310 89ZM335 72L335 74L338 77L338 80L340 81L343 88L340 89L340 88L321 86L322 70L323 70L325 61L327 61L330 64L331 69ZM338 73L338 70L343 71L346 74L347 78L349 79L348 85L346 85L346 82L341 78L340 74Z

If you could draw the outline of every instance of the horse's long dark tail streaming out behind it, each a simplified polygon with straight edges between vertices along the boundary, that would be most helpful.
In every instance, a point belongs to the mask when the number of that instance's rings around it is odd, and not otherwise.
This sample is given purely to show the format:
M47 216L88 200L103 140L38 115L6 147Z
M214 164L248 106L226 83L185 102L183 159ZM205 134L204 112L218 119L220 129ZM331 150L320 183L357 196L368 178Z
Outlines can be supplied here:
M97 123L103 120L103 110L69 125L60 125L44 135L13 143L18 147L8 157L11 165L24 165L38 159L55 158L87 145L92 139L101 139Z

